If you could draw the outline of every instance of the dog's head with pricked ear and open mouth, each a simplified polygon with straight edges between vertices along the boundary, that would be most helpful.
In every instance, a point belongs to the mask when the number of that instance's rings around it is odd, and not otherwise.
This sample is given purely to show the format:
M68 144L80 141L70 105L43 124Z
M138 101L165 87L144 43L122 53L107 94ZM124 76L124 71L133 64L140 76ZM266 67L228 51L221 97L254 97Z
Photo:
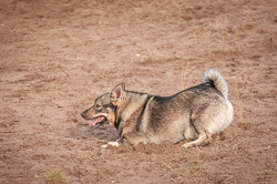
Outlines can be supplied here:
M90 126L98 127L104 123L114 125L116 108L124 100L125 84L121 83L111 93L99 96L94 105L81 113L84 120L91 120Z

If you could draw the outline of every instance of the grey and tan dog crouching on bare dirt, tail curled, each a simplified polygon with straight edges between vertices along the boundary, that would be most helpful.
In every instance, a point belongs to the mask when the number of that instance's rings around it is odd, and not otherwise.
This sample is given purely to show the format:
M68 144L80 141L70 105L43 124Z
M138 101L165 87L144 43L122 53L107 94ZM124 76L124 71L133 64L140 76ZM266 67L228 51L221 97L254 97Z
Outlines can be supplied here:
M120 139L109 145L176 144L192 140L183 145L191 147L209 144L213 134L228 127L233 113L226 81L217 70L209 69L203 73L199 85L172 96L126 91L121 83L99 96L81 115L91 121L92 127L104 123L115 126Z

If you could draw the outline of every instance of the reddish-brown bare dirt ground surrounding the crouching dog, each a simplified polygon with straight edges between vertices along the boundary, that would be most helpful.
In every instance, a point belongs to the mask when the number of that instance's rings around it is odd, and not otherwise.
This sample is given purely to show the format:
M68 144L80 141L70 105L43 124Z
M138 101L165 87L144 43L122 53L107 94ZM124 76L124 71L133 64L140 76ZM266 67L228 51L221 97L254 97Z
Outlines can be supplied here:
M115 129L80 115L117 83L172 95L209 68L235 116L207 146L101 149ZM276 0L1 0L0 76L2 184L277 182Z

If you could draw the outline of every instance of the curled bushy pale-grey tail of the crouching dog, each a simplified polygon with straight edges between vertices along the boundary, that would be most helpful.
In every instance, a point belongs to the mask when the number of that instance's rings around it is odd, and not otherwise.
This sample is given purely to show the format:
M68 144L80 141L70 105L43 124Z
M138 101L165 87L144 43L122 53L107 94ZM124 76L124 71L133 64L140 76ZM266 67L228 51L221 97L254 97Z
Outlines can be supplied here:
M224 78L216 69L209 69L205 71L201 79L202 83L212 83L214 86L223 94L223 96L228 99L228 85Z

